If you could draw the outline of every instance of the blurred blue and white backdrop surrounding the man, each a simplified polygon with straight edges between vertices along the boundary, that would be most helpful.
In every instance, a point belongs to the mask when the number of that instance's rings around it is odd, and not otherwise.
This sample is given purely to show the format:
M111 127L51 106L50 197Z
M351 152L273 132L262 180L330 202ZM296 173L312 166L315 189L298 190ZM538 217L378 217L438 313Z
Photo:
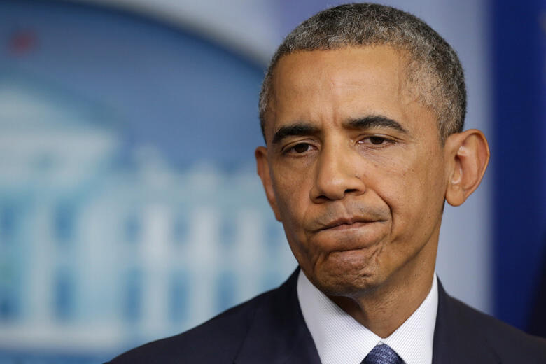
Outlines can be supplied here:
M283 36L332 0L0 0L0 363L101 363L296 267L253 149ZM451 295L546 336L546 1L385 1L457 50L492 162Z

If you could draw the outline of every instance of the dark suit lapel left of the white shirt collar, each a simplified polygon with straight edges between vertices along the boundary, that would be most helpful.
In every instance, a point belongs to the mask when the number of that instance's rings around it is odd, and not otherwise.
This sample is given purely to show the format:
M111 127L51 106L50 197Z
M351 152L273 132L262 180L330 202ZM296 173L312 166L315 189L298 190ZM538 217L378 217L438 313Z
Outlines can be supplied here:
M296 269L270 300L260 302L235 363L320 363L297 300L299 272Z

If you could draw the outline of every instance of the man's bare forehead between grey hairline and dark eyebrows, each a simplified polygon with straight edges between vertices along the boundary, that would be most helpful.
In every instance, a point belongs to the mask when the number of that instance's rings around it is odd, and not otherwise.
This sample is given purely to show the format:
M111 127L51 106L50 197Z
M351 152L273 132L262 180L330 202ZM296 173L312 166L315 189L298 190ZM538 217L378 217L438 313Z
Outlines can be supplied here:
M422 112L408 87L405 53L388 45L295 52L274 70L265 127L283 123L330 122L365 115L410 120ZM409 126L411 129L411 125Z

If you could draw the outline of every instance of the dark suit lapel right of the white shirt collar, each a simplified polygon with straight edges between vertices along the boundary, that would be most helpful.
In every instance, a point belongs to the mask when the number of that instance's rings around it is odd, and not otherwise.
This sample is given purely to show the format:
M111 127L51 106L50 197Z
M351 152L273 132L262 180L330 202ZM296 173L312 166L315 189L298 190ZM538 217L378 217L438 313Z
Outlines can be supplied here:
M461 305L438 281L438 311L434 330L433 364L498 364L500 360L478 328L461 314Z

